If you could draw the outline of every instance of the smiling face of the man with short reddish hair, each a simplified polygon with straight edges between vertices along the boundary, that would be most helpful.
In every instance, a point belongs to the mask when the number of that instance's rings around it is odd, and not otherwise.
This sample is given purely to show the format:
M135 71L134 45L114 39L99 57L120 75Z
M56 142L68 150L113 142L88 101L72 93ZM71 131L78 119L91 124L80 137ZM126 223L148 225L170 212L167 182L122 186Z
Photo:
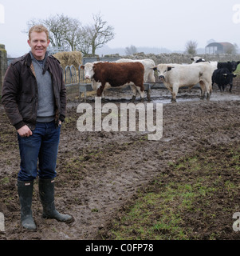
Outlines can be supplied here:
M28 40L28 44L31 47L31 52L38 61L45 58L45 53L47 47L49 46L49 40L47 40L47 35L45 32L35 32L31 33L31 38Z

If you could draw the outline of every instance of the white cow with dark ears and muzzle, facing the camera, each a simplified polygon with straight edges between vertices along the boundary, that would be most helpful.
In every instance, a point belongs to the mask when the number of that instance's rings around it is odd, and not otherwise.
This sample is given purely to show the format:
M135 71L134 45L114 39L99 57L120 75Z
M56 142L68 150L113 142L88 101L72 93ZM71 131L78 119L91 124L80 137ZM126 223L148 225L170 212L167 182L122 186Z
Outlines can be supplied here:
M171 91L171 102L176 102L180 87L193 87L198 83L202 90L201 98L204 98L204 94L207 91L207 100L210 99L211 76L213 73L213 68L210 64L159 64L154 67L154 70L157 70L160 81Z

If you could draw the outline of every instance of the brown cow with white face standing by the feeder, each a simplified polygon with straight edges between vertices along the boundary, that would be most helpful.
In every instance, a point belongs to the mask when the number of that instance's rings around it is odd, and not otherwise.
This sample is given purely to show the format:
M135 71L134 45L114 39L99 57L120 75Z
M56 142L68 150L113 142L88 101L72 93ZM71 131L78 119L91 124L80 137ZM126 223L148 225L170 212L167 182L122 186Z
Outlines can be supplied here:
M116 63L93 62L81 66L85 79L92 80L92 89L104 98L104 90L110 87L130 85L133 91L131 102L135 102L137 91L144 101L144 65L140 62Z

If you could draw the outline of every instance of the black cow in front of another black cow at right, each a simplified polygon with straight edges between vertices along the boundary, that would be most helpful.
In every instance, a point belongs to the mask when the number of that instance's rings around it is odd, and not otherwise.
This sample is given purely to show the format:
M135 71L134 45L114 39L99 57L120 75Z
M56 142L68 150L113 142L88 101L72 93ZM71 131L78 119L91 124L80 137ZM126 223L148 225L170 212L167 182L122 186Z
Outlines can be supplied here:
M214 74L212 76L212 84L216 83L221 92L225 90L225 86L230 85L230 92L233 87L233 80L236 78L236 74L230 72L230 70L226 67L218 68L218 70L214 70Z

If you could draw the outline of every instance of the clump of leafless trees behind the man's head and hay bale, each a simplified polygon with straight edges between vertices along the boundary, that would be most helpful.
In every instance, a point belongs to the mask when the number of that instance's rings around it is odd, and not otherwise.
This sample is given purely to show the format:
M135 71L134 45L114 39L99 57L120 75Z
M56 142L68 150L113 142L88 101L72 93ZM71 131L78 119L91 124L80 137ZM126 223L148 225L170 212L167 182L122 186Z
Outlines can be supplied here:
M57 14L46 19L32 19L27 22L28 30L31 26L42 24L49 30L51 46L62 46L69 50L80 50L83 54L92 55L96 49L104 46L114 38L113 27L104 22L100 14L93 14L94 23L82 26L75 18L69 18L64 14ZM27 30L27 31L28 31ZM27 33L27 31L23 31Z

